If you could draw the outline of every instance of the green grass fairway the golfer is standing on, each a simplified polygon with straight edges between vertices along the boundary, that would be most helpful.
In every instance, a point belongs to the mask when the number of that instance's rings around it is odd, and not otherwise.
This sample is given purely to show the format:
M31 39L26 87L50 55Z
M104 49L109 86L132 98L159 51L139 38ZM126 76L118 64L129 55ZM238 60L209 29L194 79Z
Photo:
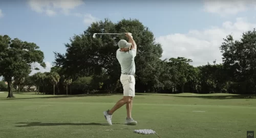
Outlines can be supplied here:
M124 125L125 106L109 126L102 112L122 95L45 96L0 94L0 137L158 137L134 133L153 129L160 137L246 137L256 131L256 99L228 94L137 94L133 118Z

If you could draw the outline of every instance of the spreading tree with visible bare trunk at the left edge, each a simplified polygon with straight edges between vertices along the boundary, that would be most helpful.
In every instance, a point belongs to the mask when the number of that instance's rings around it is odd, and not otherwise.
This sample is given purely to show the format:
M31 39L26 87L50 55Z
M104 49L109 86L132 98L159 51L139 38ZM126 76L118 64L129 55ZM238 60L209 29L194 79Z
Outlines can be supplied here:
M33 42L11 39L8 35L0 35L0 76L8 82L8 97L13 98L11 85L13 78L19 77L20 73L30 71L31 63L38 62L46 67L44 53Z

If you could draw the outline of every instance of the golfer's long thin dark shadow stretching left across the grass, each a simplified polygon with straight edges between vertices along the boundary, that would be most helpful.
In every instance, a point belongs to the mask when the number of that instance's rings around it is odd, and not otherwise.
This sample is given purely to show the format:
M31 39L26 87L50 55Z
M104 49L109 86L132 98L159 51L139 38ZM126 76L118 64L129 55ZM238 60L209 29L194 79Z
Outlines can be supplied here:
M41 122L27 122L27 123L16 123L16 124L26 124L19 125L16 127L33 127L33 126L108 126L107 123L41 123ZM118 124L118 123L113 123Z

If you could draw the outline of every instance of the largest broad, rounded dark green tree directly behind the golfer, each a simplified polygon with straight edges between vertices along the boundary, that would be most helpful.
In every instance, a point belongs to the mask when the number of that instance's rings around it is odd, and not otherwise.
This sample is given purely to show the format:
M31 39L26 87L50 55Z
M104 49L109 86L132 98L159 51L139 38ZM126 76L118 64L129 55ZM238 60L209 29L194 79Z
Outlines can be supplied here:
M116 24L105 19L94 22L83 34L74 35L65 44L66 54L55 53L55 65L65 68L65 74L76 80L80 76L106 73L105 89L115 89L121 67L116 59L117 43L124 35L97 35L94 33L131 32L138 47L136 64L137 89L153 87L158 82L157 62L162 54L161 44L155 42L153 33L137 19L122 19ZM128 41L128 40L127 40Z

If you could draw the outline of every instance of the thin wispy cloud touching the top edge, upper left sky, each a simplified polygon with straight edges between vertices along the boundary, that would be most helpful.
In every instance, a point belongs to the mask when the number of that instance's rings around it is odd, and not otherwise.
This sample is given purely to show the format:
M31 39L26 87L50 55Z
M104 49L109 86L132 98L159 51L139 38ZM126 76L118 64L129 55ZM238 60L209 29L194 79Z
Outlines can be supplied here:
M84 2L82 0L28 0L28 4L32 10L38 13L53 16L56 15L58 10L68 15L71 9L84 4Z

